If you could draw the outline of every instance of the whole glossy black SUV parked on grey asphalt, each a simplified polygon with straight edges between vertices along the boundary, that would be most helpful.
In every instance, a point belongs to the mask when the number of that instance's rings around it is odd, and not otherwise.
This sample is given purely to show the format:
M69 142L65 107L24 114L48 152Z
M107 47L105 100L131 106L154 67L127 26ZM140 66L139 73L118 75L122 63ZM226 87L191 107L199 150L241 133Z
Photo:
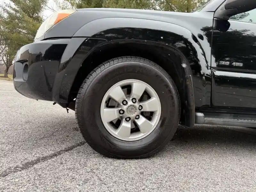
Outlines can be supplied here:
M62 10L17 52L15 89L76 112L116 158L154 155L178 124L256 127L256 1L193 13Z

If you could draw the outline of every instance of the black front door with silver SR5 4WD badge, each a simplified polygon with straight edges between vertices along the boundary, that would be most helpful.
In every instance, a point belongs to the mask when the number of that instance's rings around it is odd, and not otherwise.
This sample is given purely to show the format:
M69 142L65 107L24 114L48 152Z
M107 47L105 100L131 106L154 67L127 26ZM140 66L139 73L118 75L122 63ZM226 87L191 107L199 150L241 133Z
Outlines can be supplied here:
M212 107L256 112L256 9L212 36Z

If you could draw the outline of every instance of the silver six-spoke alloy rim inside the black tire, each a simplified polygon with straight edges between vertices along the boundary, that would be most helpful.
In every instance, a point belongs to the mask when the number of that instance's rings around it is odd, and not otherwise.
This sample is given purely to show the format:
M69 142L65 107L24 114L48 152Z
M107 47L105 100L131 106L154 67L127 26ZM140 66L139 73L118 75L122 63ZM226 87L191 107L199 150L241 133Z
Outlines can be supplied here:
M100 116L107 131L120 140L147 137L159 122L161 103L147 83L128 79L113 85L101 102Z

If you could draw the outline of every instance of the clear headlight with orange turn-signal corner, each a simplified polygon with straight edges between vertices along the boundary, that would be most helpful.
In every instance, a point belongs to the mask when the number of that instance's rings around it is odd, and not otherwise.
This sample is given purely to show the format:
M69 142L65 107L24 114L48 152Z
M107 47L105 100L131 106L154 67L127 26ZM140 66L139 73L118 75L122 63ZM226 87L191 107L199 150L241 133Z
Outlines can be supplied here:
M61 10L58 12L54 12L39 27L34 40L36 40L37 38L44 35L44 33L46 33L55 24L57 24L58 22L60 22L61 20L65 19L65 18L67 18L69 15L73 14L74 12L76 12L76 10L73 10L73 9L67 9L67 10Z

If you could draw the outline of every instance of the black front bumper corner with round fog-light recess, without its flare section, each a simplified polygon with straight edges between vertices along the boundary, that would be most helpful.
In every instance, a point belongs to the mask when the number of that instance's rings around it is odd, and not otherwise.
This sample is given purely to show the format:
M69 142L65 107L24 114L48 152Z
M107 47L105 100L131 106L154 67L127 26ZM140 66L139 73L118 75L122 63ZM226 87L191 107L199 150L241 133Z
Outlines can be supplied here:
M54 79L69 41L52 39L21 47L14 62L14 88L31 99L53 100Z

